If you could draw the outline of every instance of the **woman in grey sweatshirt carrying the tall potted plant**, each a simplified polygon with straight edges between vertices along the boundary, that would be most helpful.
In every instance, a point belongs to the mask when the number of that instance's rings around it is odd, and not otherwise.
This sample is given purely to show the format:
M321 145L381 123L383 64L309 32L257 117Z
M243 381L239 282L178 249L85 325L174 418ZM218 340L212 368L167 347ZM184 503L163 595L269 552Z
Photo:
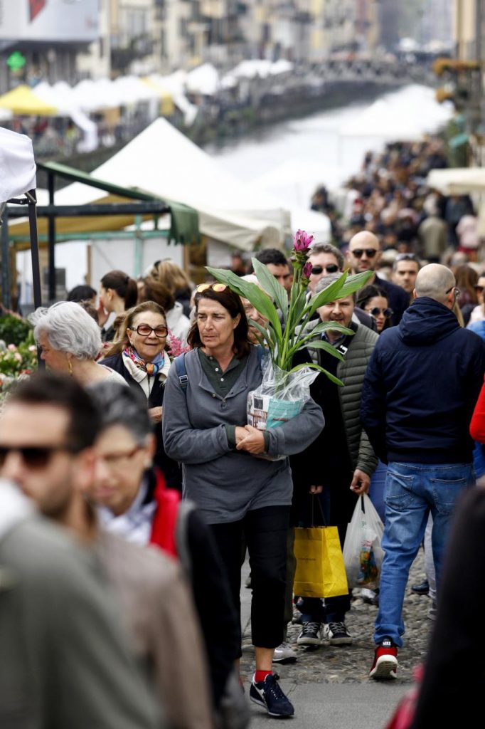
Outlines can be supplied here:
M323 428L312 399L291 421L261 432L246 425L248 393L262 380L259 348L248 340L240 297L224 284L202 284L185 375L167 378L164 442L181 461L184 496L210 524L240 613L241 545L251 564L251 631L256 674L250 698L273 716L292 716L293 706L272 673L275 648L283 642L286 540L293 486L288 458ZM239 652L240 655L240 652Z

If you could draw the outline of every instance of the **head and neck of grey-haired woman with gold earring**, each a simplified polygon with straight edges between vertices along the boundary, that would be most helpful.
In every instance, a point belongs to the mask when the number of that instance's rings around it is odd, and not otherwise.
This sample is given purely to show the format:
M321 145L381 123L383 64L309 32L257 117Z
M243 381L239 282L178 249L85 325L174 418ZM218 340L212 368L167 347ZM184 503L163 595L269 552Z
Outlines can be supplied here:
M98 324L74 301L39 308L29 316L41 359L50 370L74 377L82 386L123 379L111 367L95 362L101 351Z

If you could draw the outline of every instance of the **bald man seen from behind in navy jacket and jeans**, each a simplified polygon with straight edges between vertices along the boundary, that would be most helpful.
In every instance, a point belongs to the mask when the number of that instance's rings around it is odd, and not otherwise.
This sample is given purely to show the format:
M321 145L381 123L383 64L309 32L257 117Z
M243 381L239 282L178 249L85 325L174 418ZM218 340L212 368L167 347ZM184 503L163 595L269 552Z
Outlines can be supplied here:
M485 343L458 324L452 309L459 293L449 268L424 266L413 303L398 327L379 336L364 378L360 419L388 464L374 679L396 678L404 591L430 513L439 611L449 524L472 477L468 427L484 381Z

